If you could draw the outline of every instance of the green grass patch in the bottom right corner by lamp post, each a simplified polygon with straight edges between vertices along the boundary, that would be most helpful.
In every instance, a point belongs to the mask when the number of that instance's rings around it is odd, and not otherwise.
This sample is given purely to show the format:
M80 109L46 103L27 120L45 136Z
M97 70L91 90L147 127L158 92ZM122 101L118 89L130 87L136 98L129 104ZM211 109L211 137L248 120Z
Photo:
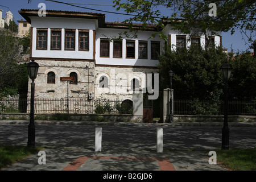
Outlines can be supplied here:
M216 150L217 162L235 171L256 171L256 148Z

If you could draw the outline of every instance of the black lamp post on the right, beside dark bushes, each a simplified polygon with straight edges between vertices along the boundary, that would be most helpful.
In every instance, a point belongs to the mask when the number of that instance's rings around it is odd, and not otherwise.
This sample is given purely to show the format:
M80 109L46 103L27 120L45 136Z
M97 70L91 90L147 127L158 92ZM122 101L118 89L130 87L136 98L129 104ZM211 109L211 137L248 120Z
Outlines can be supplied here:
M222 149L229 149L229 127L228 127L228 80L231 76L232 65L227 61L221 65L222 78L224 86L224 125L222 128Z

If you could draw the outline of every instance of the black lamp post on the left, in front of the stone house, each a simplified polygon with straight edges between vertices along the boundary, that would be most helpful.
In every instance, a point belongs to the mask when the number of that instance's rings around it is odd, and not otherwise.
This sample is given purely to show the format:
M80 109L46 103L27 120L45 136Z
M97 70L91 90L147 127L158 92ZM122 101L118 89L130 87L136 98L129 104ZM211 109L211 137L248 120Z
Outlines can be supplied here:
M28 147L35 147L35 120L34 120L34 104L35 104L35 78L38 75L38 63L31 60L27 65L28 75L31 82L31 101L30 101L30 124L28 125Z

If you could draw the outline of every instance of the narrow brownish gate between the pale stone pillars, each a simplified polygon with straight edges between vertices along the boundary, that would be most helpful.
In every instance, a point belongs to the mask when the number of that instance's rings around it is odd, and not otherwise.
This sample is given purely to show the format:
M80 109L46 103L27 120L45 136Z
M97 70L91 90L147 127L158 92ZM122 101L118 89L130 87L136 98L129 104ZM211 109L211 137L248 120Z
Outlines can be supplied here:
M153 122L153 100L148 100L150 94L143 94L143 123Z

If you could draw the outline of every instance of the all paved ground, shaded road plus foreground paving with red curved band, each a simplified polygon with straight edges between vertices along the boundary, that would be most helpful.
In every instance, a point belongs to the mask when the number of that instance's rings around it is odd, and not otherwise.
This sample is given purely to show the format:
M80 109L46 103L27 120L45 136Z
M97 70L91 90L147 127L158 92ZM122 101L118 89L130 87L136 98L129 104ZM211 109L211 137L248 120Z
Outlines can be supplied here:
M94 152L96 127L102 127L102 152ZM221 147L222 127L161 126L163 153L156 152L156 127L36 125L36 145L48 147L47 165L33 155L5 170L63 170L80 159L76 170L159 171L158 159L170 159L177 171L226 170L208 163L208 152ZM0 144L26 146L27 125L0 125L0 131ZM230 127L230 148L250 147L256 147L256 127Z

